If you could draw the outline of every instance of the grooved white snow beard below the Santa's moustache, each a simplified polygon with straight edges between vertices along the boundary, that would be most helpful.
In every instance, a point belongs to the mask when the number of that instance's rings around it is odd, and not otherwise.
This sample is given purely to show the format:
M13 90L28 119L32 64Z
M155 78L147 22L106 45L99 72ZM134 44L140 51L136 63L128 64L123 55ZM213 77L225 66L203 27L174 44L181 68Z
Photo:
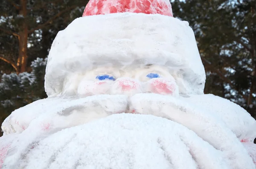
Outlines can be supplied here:
M3 169L233 168L231 158L225 158L227 150L215 149L183 125L151 115L111 115L41 136L35 125L21 133L18 141L14 138ZM243 169L254 167L246 155L237 161Z

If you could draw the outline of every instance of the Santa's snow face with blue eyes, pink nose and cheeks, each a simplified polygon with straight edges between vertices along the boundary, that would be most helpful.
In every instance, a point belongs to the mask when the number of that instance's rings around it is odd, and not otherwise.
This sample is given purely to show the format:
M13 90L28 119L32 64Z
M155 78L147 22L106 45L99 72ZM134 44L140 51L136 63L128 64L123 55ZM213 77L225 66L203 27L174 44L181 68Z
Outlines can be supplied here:
M174 72L160 65L96 68L76 75L75 79L67 77L62 94L80 97L99 94L133 96L137 93L178 96L175 77Z

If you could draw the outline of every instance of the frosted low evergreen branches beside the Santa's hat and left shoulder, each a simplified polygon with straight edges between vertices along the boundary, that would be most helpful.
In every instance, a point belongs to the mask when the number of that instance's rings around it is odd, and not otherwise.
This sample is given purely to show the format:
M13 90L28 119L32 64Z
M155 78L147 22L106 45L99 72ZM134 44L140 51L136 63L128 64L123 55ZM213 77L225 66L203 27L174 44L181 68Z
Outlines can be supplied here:
M31 64L31 73L2 75L0 81L0 124L15 109L47 97L44 91L46 64L47 59L37 58Z

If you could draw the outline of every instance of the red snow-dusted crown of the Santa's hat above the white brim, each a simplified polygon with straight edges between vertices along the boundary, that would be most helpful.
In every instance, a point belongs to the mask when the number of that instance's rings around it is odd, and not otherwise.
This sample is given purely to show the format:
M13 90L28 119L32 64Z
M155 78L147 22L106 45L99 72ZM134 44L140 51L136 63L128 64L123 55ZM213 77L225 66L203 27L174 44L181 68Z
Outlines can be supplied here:
M84 9L83 17L122 12L173 16L169 0L90 0Z

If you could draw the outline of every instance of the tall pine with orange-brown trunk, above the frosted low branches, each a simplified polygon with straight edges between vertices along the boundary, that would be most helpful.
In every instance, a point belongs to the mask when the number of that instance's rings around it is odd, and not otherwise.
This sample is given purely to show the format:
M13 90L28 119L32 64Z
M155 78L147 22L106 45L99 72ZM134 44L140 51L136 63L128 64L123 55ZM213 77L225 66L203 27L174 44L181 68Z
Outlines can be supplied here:
M0 68L22 73L37 57L45 58L58 33L81 11L80 0L2 0ZM82 12L80 13L82 14ZM81 15L80 15L81 16Z

